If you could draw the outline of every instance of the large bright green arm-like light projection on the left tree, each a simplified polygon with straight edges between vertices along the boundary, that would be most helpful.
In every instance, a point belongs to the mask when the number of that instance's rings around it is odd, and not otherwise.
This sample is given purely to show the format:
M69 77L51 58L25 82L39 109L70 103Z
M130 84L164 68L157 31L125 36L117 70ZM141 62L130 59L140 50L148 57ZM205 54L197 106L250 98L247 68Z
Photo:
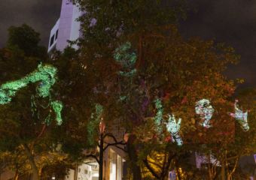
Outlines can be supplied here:
M30 83L38 83L36 87L36 96L39 98L49 98L49 104L47 107L51 107L53 112L56 114L57 124L62 124L62 102L52 101L50 91L54 83L56 83L56 73L57 69L51 65L38 65L38 68L31 74L26 75L26 77L20 80L11 81L0 86L0 104L8 104L11 99L17 95L17 92L28 86ZM32 102L32 104L34 104ZM45 123L49 124L50 113L45 119Z

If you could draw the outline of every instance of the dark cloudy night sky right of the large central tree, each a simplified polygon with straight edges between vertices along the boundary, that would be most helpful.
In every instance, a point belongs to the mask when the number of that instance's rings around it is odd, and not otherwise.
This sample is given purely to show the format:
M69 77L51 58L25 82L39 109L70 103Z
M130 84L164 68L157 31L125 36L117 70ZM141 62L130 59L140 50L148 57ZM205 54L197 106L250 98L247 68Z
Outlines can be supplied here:
M256 86L256 1L190 0L189 7L181 33L233 46L241 55L241 62L230 66L227 76L244 78L245 86Z

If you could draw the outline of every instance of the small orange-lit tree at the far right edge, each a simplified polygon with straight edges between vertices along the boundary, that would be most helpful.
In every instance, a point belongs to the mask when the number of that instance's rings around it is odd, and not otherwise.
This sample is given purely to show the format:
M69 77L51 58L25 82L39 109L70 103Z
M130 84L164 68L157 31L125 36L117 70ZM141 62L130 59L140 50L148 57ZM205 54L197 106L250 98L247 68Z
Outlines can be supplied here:
M255 96L256 92L253 88L242 89L236 92L236 101L239 108L245 112L248 110L248 126L249 130L245 131L241 124L236 122L236 134L233 143L226 143L222 151L217 154L223 163L223 173L221 178L232 179L239 167L239 159L242 156L253 154L255 151ZM239 172L238 172L239 173Z

